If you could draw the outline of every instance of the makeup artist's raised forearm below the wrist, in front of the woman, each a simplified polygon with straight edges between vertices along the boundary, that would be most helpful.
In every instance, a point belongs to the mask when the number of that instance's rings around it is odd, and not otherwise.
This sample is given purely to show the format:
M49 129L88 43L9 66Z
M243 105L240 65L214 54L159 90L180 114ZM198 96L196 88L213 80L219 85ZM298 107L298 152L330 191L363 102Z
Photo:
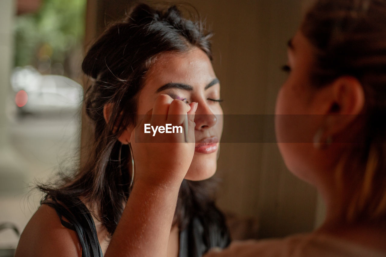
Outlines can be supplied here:
M104 256L166 256L178 191L135 181Z

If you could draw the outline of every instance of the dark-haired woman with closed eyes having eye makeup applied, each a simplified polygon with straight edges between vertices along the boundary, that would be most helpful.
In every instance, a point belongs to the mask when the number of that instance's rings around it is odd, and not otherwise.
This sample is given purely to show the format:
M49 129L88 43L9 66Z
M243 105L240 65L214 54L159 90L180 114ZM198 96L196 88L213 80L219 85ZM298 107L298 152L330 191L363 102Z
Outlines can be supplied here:
M164 181L163 176L178 166L175 158L187 160L179 166L186 175L181 187L169 191L176 197L174 218L167 223L169 232L160 238L162 254L196 257L229 244L207 180L217 168L223 126L209 37L199 23L183 19L176 7L156 10L145 4L99 37L82 64L92 81L85 97L94 129L90 157L74 176L54 186L40 186L47 196L22 233L15 256L102 256L107 249L107 256L130 255L121 247L124 238L112 235L134 233L134 238L145 240L143 231L125 225L146 222L146 216L138 223L122 213L141 215L147 207L131 210L127 201L132 195L134 200L144 197L145 205L159 199L159 209L153 210L162 213L167 207L159 198L162 194L134 188L144 182L172 186L172 180ZM139 130L136 138L130 136L144 121L154 127L181 126L189 133L152 137L151 132L146 134L151 140L167 137L138 150L135 141L141 144L148 138L142 138ZM151 179L143 179L143 170L153 172ZM151 222L161 225L161 218ZM135 244L135 240L125 243Z

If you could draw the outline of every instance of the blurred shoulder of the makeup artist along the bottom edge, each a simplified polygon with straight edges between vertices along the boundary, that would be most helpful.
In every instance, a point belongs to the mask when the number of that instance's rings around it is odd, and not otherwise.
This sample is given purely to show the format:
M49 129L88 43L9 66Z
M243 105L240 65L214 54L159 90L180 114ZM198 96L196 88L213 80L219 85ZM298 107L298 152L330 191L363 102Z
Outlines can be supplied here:
M210 252L205 257L384 257L385 254L339 238L310 233L283 239L233 242L222 252Z

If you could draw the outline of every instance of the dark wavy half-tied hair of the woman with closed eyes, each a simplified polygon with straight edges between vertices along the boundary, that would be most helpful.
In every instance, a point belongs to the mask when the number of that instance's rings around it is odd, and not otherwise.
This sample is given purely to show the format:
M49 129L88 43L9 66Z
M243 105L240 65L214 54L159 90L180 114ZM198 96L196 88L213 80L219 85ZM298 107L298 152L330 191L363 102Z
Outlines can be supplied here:
M91 81L85 94L86 113L94 132L88 159L74 175L62 178L56 186L39 188L54 198L84 197L112 235L129 198L131 179L129 147L122 145L118 137L128 125L135 124L137 95L146 73L164 52L187 52L198 47L212 60L211 34L203 31L200 22L184 19L176 6L156 10L146 4L137 5L124 20L110 25L82 63ZM111 105L108 124L103 117L107 104ZM205 224L204 234L216 231L221 237L227 235L224 217L210 190L211 180L183 181L174 217L180 230L195 216Z

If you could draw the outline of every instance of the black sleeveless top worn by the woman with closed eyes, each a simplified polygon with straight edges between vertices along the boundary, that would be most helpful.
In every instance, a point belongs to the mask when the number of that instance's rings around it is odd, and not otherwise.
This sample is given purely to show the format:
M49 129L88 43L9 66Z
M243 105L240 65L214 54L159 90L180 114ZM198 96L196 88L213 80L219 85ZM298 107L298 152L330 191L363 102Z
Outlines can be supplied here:
M65 207L58 201L62 202ZM54 208L62 225L78 234L82 257L103 257L93 218L79 198L46 196L41 204ZM63 220L63 217L69 222ZM225 248L229 245L229 235L221 233L220 227L212 226L209 233L204 233L204 230L203 222L198 217L190 221L188 227L179 233L178 257L201 257L212 247Z

